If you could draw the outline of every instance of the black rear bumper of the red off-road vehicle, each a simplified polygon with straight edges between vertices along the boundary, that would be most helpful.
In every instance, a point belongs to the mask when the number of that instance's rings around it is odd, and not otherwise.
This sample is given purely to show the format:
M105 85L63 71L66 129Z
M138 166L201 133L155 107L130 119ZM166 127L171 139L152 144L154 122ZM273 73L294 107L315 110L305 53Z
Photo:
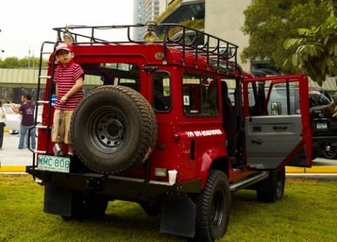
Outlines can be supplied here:
M105 176L95 173L41 171L33 166L26 166L26 172L31 174L40 185L48 184L83 192L94 192L123 200L147 200L149 197L162 197L169 194L201 192L201 179L171 185L157 180L146 181L139 178Z

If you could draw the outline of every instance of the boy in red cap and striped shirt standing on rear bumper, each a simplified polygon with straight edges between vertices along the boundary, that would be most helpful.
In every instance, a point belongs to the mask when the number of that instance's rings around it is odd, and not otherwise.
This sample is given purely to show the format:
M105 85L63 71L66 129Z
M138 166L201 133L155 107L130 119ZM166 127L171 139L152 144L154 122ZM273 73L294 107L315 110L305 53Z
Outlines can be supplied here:
M67 157L74 155L70 142L70 120L77 104L83 97L84 71L74 63L72 45L60 42L55 49L58 66L55 69L53 82L56 85L56 103L53 120L52 141L56 143L55 155L62 154L62 145L68 145Z

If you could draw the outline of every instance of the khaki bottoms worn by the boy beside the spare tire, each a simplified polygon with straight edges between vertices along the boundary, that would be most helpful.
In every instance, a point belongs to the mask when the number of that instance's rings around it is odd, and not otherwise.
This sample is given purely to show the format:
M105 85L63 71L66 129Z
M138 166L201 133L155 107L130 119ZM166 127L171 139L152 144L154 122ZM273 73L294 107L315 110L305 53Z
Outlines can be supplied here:
M51 130L51 141L55 143L65 142L70 144L70 120L73 110L55 109L53 129ZM60 120L61 118L61 120ZM60 131L58 129L60 128Z

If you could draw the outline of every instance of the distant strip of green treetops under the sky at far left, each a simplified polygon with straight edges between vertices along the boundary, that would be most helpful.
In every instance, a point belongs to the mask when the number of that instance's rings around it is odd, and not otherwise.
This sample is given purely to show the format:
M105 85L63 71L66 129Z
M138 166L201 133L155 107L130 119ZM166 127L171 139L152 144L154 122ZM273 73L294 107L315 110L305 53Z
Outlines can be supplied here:
M0 59L0 69L18 69L18 68L28 68L28 67L38 67L40 63L39 58L23 58L18 59L18 57L7 57L6 59ZM42 60L42 66L47 66L47 60Z

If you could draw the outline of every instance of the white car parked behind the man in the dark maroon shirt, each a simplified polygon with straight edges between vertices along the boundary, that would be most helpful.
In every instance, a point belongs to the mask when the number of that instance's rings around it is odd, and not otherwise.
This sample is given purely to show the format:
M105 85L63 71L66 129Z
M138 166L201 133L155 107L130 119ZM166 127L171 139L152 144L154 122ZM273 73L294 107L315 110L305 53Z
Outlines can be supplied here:
M9 134L18 134L20 129L20 114L14 113L11 106L14 104L4 104L3 107L6 111L6 128ZM15 106L20 107L20 104L15 104ZM37 122L41 122L42 106L37 108Z

